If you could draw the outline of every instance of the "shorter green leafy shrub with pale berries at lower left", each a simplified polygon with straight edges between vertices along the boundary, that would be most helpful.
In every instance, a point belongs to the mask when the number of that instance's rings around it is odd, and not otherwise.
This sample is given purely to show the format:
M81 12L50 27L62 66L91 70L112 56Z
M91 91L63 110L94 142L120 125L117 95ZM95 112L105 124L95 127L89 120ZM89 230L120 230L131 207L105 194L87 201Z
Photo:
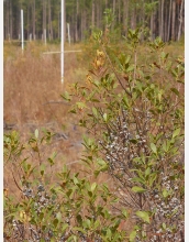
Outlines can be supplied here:
M105 163L88 163L85 174L64 164L56 170L56 153L46 160L42 155L52 136L35 130L22 144L18 132L4 133L4 168L13 180L8 184L4 177L4 241L126 241L120 224L129 213L113 213L118 198L105 183L98 183Z

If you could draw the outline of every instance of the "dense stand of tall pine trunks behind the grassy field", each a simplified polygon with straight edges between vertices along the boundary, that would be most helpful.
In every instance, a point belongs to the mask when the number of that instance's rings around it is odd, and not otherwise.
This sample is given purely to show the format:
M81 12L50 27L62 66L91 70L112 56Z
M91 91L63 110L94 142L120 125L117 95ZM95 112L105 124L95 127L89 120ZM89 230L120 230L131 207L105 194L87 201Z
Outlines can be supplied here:
M44 31L48 41L60 38L60 0L4 0L4 40L20 38L21 9L24 40L43 40ZM73 43L110 28L110 22L120 37L137 26L151 40L160 36L165 42L178 41L185 32L185 0L65 0L65 11Z

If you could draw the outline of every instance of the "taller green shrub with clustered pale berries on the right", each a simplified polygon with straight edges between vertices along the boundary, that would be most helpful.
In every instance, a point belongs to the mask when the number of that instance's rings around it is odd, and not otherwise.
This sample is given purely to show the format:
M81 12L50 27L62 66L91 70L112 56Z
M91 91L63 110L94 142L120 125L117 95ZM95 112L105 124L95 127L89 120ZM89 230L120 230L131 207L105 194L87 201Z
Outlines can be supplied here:
M84 140L84 160L114 180L119 208L131 211L130 241L184 241L184 57L170 58L157 37L138 63L140 29L129 31L126 53L102 36L86 85L63 95L93 139Z

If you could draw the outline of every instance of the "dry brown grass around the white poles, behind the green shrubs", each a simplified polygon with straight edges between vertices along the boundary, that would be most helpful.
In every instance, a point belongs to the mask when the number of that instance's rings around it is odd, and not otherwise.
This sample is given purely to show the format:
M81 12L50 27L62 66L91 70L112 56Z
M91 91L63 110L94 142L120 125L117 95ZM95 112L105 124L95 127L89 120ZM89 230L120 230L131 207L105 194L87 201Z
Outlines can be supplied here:
M78 50L80 46L65 46ZM14 124L21 141L25 142L35 129L46 128L55 133L65 133L64 138L54 138L51 146L42 150L43 161L57 151L57 170L63 164L76 162L82 150L81 133L75 116L68 113L70 106L60 98L60 94L75 81L85 79L87 70L77 61L77 54L65 55L65 81L60 81L60 55L44 55L44 52L57 52L58 45L29 43L22 53L21 47L4 44L3 65L3 121L8 127ZM4 131L7 132L7 131ZM57 134L57 135L58 135ZM34 158L35 161L35 158ZM77 163L70 164L78 169ZM19 177L18 177L19 178ZM13 185L10 167L4 167L4 186Z

